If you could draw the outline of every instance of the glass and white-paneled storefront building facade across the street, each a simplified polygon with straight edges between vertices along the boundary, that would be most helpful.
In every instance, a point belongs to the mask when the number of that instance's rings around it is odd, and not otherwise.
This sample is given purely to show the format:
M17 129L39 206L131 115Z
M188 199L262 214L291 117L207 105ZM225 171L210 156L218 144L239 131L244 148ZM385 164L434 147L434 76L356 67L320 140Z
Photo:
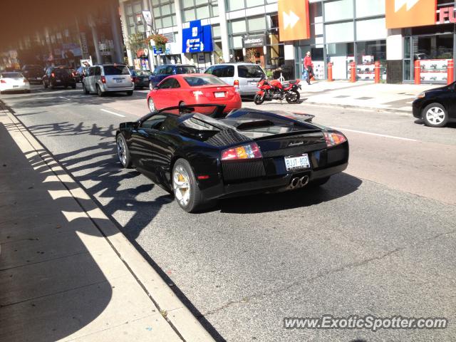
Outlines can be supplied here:
M379 61L383 80L409 82L414 62L420 60L423 82L446 80L447 60L455 55L455 1L283 1L302 6L305 14L296 18L309 21L305 38L287 41L281 40L281 30L296 21L283 7L279 12L278 1L283 0L120 0L120 14L125 38L154 31L168 38L162 53L155 54L150 47L151 67L192 63L203 69L251 61L267 70L279 69L286 78L299 78L310 51L317 79L326 78L328 62L333 64L333 78L347 79L354 61L358 80L372 80ZM150 11L152 26L145 23L143 11ZM211 51L186 51L182 46L183 31L195 21L210 26ZM128 51L130 63L134 53Z

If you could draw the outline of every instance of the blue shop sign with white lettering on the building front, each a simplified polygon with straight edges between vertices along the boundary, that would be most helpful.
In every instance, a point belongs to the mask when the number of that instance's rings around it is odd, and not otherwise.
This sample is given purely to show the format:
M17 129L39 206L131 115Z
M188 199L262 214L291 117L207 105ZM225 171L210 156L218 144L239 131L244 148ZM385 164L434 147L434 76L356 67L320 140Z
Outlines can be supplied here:
M189 28L182 29L182 52L197 53L212 51L212 29L201 25L200 20L190 21Z

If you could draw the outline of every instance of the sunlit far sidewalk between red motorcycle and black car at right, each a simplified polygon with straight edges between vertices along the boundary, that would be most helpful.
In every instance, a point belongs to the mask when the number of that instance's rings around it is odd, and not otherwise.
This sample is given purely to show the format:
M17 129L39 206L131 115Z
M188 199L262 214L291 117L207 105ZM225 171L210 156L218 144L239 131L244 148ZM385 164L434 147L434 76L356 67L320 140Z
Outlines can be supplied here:
M443 85L441 85L443 86ZM415 96L423 90L440 85L403 83L387 84L373 81L314 81L311 86L301 83L304 104L336 105L348 108L368 108L411 113Z

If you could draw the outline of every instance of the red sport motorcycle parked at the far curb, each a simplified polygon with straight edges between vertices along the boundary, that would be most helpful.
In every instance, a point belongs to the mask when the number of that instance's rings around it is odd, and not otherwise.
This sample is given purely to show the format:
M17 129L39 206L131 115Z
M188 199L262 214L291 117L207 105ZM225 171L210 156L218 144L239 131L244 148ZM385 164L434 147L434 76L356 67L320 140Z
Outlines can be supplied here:
M254 103L261 105L264 101L284 99L288 103L298 103L301 97L298 91L298 89L301 89L300 82L301 80L289 81L289 85L286 86L279 80L268 81L266 78L261 77L257 84L259 91L254 97Z

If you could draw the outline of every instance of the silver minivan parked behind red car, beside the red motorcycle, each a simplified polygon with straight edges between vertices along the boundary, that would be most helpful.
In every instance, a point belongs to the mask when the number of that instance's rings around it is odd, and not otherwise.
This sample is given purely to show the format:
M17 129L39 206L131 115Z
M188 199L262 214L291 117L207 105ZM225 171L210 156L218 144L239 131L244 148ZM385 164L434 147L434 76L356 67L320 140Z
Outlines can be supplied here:
M221 78L239 90L241 96L254 96L261 78L266 78L263 68L254 63L224 63L209 66L204 71Z

